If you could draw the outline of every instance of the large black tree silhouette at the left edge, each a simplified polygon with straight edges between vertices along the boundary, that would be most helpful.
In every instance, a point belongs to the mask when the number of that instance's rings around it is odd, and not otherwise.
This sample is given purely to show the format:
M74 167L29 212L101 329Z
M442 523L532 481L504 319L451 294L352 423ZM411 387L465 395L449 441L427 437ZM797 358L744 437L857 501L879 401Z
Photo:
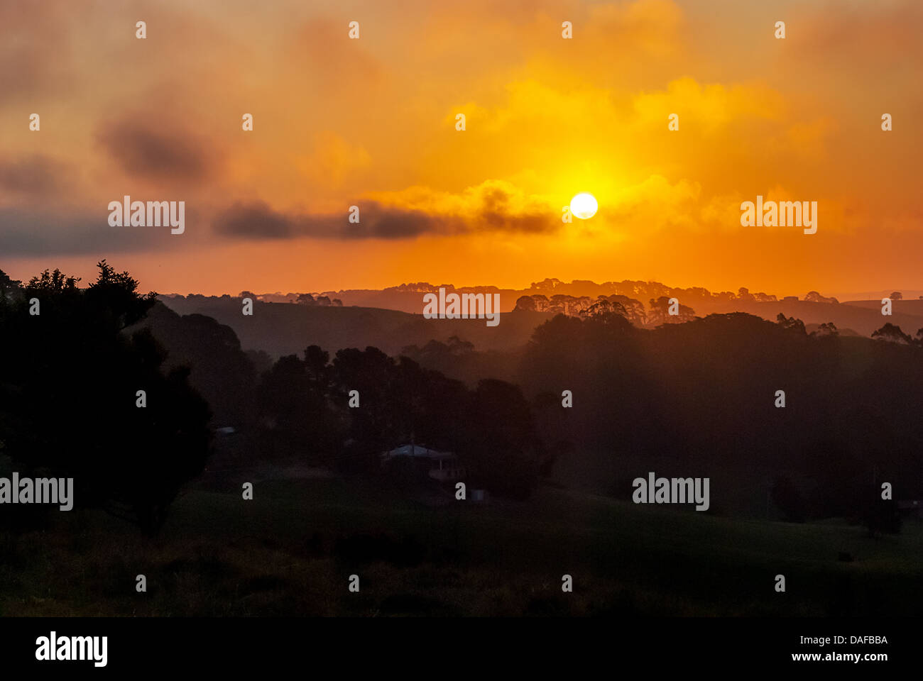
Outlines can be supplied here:
M157 532L182 484L209 453L207 403L165 353L144 317L155 296L103 260L86 290L55 269L24 295L0 300L0 440L26 470L73 477L75 506L126 509ZM30 298L39 315L30 315ZM138 390L147 406L139 408Z

